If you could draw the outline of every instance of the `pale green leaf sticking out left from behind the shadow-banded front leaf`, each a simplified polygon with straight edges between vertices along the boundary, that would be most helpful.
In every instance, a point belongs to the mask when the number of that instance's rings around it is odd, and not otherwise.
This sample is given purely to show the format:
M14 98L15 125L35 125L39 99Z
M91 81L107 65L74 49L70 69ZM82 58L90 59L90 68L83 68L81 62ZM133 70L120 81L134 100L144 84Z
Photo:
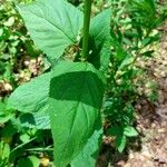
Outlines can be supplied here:
M50 73L41 75L18 87L9 97L8 106L22 112L47 110Z

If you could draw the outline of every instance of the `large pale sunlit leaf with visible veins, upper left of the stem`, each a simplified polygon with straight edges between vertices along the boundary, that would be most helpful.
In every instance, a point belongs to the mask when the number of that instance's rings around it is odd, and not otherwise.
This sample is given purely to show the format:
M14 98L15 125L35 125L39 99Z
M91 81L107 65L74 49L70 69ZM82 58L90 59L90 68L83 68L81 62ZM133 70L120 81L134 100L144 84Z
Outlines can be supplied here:
M50 59L77 41L82 13L65 0L38 0L18 6L31 38Z

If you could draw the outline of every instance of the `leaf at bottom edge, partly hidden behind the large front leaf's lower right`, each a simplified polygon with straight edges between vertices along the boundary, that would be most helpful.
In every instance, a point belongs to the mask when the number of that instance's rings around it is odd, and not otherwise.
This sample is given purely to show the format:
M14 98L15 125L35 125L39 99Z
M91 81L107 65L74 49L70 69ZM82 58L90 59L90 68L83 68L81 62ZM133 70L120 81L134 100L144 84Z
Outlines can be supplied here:
M95 167L101 141L102 129L99 129L92 134L84 150L72 160L71 167Z

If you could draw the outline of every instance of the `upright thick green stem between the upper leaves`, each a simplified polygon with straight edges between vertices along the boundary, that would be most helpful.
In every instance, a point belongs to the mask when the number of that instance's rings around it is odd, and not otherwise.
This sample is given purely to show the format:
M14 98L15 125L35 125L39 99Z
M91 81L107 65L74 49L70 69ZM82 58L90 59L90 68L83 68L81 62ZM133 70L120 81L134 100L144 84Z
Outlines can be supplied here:
M85 17L84 17L84 32L82 32L82 61L88 56L88 42L89 42L89 24L91 13L91 0L85 0Z

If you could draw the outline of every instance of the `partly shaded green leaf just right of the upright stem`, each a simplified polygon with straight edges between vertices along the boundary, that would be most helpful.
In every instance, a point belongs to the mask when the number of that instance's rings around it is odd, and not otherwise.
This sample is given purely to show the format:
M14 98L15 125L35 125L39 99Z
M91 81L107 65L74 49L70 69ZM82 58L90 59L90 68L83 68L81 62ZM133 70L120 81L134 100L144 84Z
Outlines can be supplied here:
M94 63L96 68L105 70L110 57L110 9L104 10L92 18L90 37L91 53L88 61Z

